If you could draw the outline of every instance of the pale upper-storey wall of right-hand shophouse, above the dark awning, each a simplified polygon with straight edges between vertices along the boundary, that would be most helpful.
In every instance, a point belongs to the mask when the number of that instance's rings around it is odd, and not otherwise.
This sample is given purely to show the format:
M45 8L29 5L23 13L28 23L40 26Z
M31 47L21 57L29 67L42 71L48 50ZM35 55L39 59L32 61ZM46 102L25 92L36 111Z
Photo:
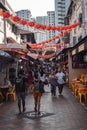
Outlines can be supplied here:
M79 22L79 20L82 17L82 3L81 0L78 1L72 1L71 7L70 7L70 17L69 17L69 24L74 24L76 22ZM78 43L79 40L82 38L82 26L78 26L74 28L70 32L70 46L74 46Z

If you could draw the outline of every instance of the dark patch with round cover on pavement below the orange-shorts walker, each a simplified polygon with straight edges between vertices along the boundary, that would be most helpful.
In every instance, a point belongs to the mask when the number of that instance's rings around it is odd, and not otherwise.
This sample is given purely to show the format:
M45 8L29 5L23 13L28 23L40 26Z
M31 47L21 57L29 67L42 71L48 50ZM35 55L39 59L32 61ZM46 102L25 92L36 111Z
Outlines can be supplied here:
M43 118L43 117L47 117L51 115L54 115L54 113L47 113L47 112L41 111L40 115L38 115L38 113L34 111L29 111L29 112L22 113L19 116L22 118L28 118L28 119L38 119L38 118Z

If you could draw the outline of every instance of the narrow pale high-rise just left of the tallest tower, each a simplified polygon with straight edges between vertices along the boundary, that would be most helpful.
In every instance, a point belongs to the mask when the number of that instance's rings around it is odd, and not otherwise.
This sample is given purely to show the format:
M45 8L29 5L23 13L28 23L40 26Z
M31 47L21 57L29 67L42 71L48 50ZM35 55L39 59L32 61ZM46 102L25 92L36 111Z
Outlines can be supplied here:
M55 26L55 12L54 11L48 11L48 25L49 26ZM55 31L48 31L48 39L55 37ZM51 42L54 43L55 41Z

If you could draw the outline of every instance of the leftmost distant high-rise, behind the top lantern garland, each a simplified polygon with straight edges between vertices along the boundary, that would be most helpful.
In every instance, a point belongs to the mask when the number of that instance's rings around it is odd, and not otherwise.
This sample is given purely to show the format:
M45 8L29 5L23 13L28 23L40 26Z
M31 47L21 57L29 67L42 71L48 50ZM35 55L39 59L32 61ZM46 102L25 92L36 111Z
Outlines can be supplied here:
M22 18L22 19L25 19L27 21L31 21L31 11L28 10L28 9L24 9L24 10L20 10L20 11L17 11L16 14ZM27 30L27 31L31 31L32 29L28 26L23 26L23 25L20 25L20 28L22 30Z

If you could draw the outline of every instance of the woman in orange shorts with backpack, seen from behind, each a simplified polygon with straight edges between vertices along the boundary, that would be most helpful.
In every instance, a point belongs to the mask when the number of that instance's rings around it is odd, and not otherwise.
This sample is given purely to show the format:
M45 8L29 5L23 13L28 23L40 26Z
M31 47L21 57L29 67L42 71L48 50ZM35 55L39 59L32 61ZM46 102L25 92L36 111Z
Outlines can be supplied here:
M42 88L40 79L38 75L35 75L34 86L33 86L33 96L34 96L34 111L40 115L40 102L42 96Z

